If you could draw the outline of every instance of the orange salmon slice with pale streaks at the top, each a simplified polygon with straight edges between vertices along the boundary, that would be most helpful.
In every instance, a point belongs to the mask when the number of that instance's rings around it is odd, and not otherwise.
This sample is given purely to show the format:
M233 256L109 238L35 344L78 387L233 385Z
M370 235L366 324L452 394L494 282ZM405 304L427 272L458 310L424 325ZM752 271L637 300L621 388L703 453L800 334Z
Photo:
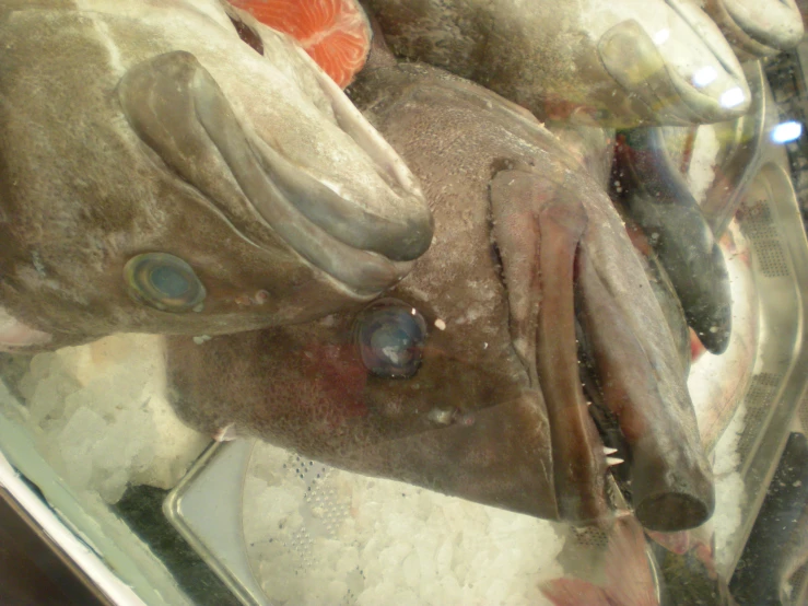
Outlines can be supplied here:
M371 25L354 0L230 0L258 21L295 38L344 89L371 49Z

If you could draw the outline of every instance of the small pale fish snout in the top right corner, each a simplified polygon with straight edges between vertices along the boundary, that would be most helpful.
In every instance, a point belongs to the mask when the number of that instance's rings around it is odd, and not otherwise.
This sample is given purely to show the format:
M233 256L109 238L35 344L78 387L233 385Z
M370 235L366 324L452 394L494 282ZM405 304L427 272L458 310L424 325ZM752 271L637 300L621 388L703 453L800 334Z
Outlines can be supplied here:
M704 10L741 61L794 48L805 34L795 0L707 0Z

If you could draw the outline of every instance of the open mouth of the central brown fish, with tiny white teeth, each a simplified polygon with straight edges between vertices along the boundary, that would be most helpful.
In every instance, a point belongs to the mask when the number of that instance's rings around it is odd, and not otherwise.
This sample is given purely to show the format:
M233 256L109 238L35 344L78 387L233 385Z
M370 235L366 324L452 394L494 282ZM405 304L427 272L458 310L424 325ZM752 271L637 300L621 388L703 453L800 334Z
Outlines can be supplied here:
M672 337L647 328L665 319L608 198L572 178L551 183L515 168L491 185L511 340L547 410L559 517L611 515L606 474L623 461L592 417L598 399L631 455L640 522L698 526L714 508L712 473ZM597 381L584 391L587 365Z

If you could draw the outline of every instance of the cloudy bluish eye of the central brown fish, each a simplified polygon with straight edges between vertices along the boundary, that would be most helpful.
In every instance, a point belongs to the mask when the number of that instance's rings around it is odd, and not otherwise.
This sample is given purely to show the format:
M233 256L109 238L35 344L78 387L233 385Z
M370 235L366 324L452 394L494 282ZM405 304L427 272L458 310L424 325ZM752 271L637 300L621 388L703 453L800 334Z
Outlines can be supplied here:
M362 363L376 376L410 378L421 368L426 322L412 305L377 301L359 314L354 335Z

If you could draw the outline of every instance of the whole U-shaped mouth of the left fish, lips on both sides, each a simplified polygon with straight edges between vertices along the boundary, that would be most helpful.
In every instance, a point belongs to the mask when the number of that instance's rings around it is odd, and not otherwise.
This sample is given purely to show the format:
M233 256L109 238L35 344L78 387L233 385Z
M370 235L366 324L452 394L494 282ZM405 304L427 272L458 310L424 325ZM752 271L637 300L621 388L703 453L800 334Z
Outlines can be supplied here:
M393 149L321 74L340 128L376 164L383 200L360 203L285 159L242 126L213 77L194 55L174 51L131 68L119 98L136 132L210 200L222 200L221 160L261 220L344 289L372 296L409 272L432 240L420 187ZM215 160L218 162L215 162ZM210 166L219 164L206 172ZM219 173L219 176L216 176ZM243 203L243 202L242 202Z

